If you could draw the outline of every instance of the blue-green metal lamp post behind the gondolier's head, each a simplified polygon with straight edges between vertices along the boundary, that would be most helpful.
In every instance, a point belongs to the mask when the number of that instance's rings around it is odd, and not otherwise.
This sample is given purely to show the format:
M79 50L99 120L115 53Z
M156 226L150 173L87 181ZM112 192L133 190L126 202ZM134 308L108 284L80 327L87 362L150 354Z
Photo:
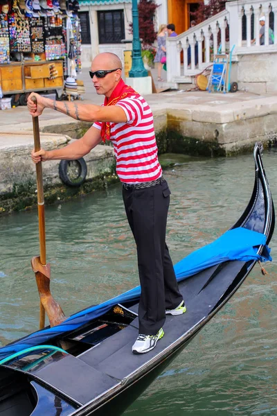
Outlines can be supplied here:
M139 40L139 10L137 0L132 0L133 17L133 48L132 48L132 68L129 71L129 78L141 78L148 76L141 58L141 42Z

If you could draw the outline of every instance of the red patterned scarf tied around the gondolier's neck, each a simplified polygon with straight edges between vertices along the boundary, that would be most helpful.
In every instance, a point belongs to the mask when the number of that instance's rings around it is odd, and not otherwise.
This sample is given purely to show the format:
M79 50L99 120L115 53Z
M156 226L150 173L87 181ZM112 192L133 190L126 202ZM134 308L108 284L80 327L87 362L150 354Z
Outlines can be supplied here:
M130 96L136 96L139 97L139 93L135 92L132 87L129 87L124 83L122 79L120 79L118 85L116 85L114 91L111 93L111 96L109 98L105 97L104 106L106 105L116 105L118 101L123 100L123 98L130 97ZM108 122L102 122L102 128L101 128L101 137L102 141L109 140L111 137L111 128L110 123Z

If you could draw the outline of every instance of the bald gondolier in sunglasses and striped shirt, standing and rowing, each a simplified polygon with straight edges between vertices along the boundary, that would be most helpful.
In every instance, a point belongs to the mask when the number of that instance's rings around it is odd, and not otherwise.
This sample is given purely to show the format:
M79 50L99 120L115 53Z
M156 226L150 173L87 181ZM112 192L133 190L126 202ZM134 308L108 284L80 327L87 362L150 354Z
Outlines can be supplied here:
M79 159L100 141L110 140L116 156L116 173L123 184L123 201L136 241L141 283L139 336L132 347L144 354L164 335L166 314L186 312L166 245L166 221L170 189L157 157L153 115L148 103L121 79L122 64L114 53L100 53L91 64L93 86L105 96L104 105L67 103L32 93L28 109L32 116L52 108L93 125L84 136L56 150L32 152L33 162ZM37 98L37 105L32 101Z

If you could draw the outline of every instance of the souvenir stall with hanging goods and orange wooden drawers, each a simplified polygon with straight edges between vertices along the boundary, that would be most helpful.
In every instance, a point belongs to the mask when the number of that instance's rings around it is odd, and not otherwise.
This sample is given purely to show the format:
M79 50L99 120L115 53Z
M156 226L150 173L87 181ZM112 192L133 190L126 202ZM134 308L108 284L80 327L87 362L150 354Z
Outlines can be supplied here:
M79 9L78 0L0 0L2 110L33 91L63 97L64 80L81 71Z

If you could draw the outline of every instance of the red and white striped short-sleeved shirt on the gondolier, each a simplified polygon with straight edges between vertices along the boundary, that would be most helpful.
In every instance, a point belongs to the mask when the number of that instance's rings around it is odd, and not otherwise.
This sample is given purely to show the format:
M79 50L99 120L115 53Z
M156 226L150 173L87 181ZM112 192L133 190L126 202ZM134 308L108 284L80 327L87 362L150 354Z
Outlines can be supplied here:
M142 96L118 101L127 123L109 123L116 155L116 173L121 182L137 184L161 177L153 114ZM102 123L93 123L101 129Z

